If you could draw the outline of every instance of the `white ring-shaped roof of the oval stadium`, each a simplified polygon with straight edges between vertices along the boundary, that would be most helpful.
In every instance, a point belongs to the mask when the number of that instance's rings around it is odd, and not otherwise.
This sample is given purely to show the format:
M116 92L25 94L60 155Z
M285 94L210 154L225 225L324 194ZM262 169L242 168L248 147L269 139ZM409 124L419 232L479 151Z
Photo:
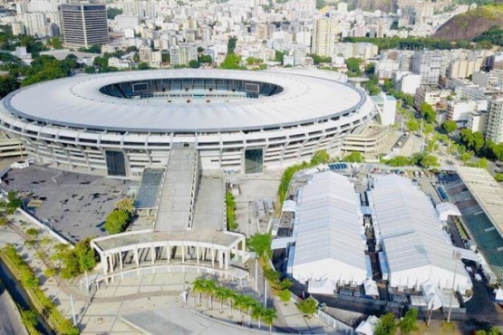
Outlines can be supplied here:
M25 87L7 96L4 108L29 120L54 125L128 131L238 131L295 126L331 119L364 103L362 91L337 76L313 72L169 70L77 75ZM102 87L125 81L219 79L262 81L284 91L260 99L168 102L105 95Z

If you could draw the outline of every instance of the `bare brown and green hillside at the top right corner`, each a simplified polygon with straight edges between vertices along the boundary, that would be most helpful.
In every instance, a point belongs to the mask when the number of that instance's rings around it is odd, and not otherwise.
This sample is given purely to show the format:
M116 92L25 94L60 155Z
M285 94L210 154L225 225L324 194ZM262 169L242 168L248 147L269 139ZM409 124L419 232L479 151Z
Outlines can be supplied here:
M433 37L448 41L471 40L489 29L503 27L503 4L480 6L442 24Z

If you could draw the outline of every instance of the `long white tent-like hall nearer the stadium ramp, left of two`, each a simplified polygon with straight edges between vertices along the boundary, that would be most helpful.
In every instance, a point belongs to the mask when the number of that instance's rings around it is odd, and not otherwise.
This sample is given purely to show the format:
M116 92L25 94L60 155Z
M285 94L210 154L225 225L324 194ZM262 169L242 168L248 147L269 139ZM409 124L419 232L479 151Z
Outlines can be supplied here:
M332 171L314 174L302 188L295 212L294 276L323 279L320 273L333 271L339 275L328 275L330 279L363 281L367 266L362 224L357 194L349 179ZM327 269L315 265L324 260L347 266ZM309 271L301 270L308 274L295 273L295 267L306 264L313 264Z

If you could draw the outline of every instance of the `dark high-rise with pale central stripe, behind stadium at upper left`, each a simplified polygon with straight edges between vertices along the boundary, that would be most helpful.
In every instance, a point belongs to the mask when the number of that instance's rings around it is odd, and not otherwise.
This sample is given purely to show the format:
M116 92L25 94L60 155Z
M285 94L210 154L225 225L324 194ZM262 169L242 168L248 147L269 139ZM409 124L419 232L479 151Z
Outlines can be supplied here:
M110 42L105 5L67 4L58 9L66 47L89 48Z

